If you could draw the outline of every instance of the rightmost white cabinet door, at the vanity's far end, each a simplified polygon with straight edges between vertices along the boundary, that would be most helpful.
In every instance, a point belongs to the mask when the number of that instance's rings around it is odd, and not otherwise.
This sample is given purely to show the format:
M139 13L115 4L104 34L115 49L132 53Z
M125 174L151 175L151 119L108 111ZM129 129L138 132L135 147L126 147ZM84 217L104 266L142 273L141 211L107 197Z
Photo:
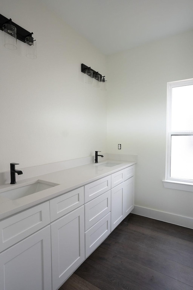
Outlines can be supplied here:
M124 182L123 188L123 216L124 218L134 208L134 177Z

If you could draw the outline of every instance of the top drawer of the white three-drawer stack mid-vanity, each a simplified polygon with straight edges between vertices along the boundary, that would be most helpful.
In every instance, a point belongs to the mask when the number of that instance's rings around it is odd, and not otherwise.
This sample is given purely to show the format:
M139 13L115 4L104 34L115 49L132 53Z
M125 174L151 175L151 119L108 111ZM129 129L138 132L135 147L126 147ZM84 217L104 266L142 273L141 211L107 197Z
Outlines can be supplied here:
M106 176L84 186L85 202L111 189L111 176Z

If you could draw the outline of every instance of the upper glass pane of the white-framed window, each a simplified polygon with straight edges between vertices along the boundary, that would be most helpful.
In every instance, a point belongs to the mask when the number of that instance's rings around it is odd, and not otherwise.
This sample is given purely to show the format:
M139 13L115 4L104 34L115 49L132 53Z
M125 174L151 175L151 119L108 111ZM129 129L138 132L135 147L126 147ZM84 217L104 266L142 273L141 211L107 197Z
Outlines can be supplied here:
M193 131L192 108L193 85L172 88L172 131Z

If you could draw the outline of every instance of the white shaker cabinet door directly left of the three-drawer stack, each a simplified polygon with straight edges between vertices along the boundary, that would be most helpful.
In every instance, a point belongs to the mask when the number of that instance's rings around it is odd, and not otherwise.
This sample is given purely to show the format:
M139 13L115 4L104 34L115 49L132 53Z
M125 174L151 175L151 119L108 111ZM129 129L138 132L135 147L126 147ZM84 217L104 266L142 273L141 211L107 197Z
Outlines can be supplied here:
M84 205L51 224L52 290L84 261Z

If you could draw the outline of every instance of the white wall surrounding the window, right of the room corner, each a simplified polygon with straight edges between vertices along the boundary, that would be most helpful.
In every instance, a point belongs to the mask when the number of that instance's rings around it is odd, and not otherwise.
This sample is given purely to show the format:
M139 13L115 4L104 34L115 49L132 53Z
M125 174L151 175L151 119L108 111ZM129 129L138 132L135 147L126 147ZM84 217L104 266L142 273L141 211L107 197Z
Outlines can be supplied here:
M189 218L193 193L164 188L162 180L167 82L193 78L192 68L193 31L108 57L107 152L121 143L119 153L138 155L136 206Z

